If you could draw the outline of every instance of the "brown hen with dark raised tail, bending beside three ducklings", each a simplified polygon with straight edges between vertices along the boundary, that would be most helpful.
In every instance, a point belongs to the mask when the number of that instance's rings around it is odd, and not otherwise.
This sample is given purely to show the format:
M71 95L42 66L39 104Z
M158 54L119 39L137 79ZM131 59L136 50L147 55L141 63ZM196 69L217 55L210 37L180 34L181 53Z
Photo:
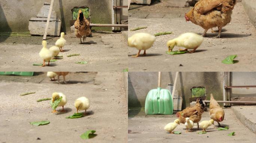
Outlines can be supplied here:
M180 123L186 123L186 117L189 117L189 120L197 123L197 130L199 129L198 122L201 120L201 115L204 112L204 103L202 102L202 98L196 99L196 105L192 107L187 107L186 109L177 112L176 116L180 119Z

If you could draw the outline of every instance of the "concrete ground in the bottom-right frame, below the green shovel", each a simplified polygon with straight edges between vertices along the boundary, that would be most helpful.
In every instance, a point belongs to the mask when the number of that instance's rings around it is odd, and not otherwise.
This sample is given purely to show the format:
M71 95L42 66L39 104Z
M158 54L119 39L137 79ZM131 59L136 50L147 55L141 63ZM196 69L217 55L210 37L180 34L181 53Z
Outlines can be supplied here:
M231 109L224 109L225 120L221 125L229 126L229 130L218 131L211 125L207 128L206 134L198 134L202 131L201 128L196 130L194 125L193 131L186 133L185 125L180 124L175 131L181 131L182 134L170 134L164 130L164 126L173 122L177 117L174 115L144 115L144 111L139 114L129 112L128 115L128 142L129 143L253 143L255 142L256 134L252 133L246 126L244 126L231 111ZM130 114L131 113L131 114ZM210 120L209 112L202 114L203 120ZM214 123L217 126L217 123ZM228 136L229 133L235 131L235 136Z

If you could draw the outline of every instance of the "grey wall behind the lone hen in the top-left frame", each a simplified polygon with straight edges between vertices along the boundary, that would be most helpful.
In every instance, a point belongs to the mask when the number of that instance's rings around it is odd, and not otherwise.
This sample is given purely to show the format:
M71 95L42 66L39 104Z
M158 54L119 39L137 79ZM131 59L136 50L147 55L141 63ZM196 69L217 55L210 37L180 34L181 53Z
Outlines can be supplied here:
M1 0L0 32L28 31L28 20L36 17L45 2L51 3L51 0ZM70 31L71 9L82 6L89 7L92 23L112 23L112 0L55 0L53 9L61 19L62 31Z

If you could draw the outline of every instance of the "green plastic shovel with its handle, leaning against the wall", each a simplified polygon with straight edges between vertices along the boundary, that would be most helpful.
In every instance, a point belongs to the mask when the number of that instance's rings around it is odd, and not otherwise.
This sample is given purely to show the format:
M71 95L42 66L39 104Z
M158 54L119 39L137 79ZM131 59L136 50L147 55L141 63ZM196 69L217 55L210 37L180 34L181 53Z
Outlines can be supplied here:
M161 89L161 72L158 76L158 88L147 93L145 113L149 114L173 114L173 98L168 89Z

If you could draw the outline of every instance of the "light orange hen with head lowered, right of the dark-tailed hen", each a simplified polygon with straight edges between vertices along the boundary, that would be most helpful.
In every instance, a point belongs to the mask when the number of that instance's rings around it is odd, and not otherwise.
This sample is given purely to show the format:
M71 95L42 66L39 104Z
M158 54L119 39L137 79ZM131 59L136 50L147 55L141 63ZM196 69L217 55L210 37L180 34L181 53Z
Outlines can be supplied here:
M220 127L219 122L224 120L225 112L224 109L221 108L218 102L213 98L213 94L211 94L209 114L211 119L216 121Z

